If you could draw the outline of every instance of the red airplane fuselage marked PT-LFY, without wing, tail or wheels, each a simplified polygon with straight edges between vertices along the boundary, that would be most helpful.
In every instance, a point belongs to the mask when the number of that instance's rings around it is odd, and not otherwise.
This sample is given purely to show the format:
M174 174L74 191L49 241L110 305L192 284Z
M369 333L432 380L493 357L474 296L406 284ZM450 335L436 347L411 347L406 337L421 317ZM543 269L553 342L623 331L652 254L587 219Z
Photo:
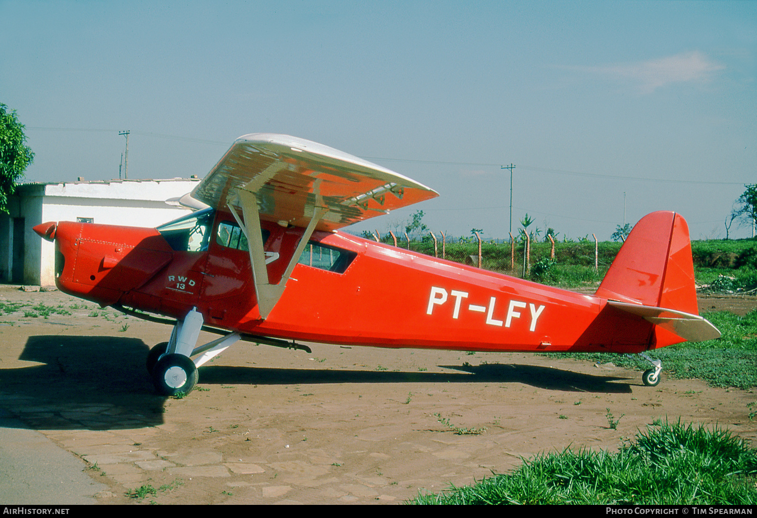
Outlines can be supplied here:
M343 345L633 353L681 342L675 335L663 341L653 324L595 295L341 232L313 233L263 320L234 217L195 214L183 226L158 229L58 223L58 288L104 306L178 320L196 307L210 326ZM261 226L267 273L279 282L303 229Z

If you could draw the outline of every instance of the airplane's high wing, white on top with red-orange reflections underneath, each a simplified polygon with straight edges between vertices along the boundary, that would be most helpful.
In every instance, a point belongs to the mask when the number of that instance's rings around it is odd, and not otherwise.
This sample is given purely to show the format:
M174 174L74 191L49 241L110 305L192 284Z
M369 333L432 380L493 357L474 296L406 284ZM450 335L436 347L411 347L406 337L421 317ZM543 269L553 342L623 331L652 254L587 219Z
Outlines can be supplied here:
M438 192L385 167L305 139L273 133L241 136L192 191L213 208L239 210L253 194L261 220L334 230L386 214ZM244 196L244 195L242 195Z

